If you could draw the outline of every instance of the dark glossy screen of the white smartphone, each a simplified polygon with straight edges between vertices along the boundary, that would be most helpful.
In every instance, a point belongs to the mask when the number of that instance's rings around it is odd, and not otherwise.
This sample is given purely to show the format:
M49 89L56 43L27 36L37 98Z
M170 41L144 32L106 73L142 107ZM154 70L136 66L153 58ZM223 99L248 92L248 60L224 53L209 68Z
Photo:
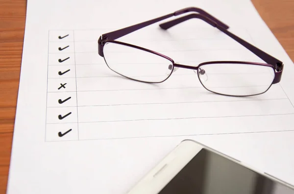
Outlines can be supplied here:
M294 190L202 149L159 194L294 194Z

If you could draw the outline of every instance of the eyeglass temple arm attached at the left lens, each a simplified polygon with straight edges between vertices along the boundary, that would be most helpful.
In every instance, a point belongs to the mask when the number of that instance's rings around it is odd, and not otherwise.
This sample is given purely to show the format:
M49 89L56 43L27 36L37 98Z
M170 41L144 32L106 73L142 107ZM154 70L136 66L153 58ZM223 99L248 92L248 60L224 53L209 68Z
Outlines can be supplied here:
M160 21L165 20L167 18L171 18L172 16L178 16L180 14L184 14L184 13L192 12L192 11L201 13L202 15L206 16L211 21L216 22L218 25L222 26L225 29L229 28L229 26L227 26L223 22L219 21L218 19L216 19L215 17L213 17L212 15L207 13L206 11L204 11L204 10L202 10L200 8L197 8L197 7L188 7L188 8L184 8L184 9L175 11L172 14L168 14L168 15L165 15L165 16L162 16L162 17L159 17L159 18L155 18L153 20L149 20L147 22L138 23L138 24L135 24L135 25L132 25L132 26L128 26L128 27L125 27L125 28L122 28L122 29L119 29L119 30L116 30L116 31L112 31L112 32L103 34L101 39L103 39L103 40L105 40L105 39L107 39L107 40L115 40L115 39L123 37L123 36L125 36L125 35L127 35L129 33L132 33L132 32L134 32L136 30L144 28L144 27L146 27L148 25L151 25L153 23L160 22Z

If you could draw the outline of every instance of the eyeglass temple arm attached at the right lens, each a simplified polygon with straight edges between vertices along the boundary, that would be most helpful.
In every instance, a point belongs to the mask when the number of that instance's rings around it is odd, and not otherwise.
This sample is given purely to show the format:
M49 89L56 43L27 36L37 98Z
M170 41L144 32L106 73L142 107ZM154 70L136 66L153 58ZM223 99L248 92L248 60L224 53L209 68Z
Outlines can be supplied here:
M276 58L270 56L268 53L260 50L259 48L253 46L252 44L244 41L243 39L241 39L238 36L234 35L233 33L229 32L227 30L227 28L222 27L217 22L211 20L210 18L208 18L208 17L206 17L206 16L204 16L202 14L190 14L190 15L187 15L187 16L183 16L181 18L174 19L174 20L169 21L169 22L162 23L159 26L166 30L166 29L169 29L170 27L172 27L172 26L174 26L174 25L176 25L178 23L185 22L185 21L190 20L192 18L201 19L201 20L209 23L210 25L218 28L223 33L225 33L226 35L228 35L229 37L231 37L232 39L234 39L238 43L242 44L243 46L245 46L248 50L250 50L252 53L257 55L260 59L262 59L263 61L265 61L268 64L273 65L274 68L277 70L277 72L275 73L275 80L274 80L273 83L277 83L277 82L280 81L281 75L282 75L282 70L283 70L283 63L281 61L279 61Z

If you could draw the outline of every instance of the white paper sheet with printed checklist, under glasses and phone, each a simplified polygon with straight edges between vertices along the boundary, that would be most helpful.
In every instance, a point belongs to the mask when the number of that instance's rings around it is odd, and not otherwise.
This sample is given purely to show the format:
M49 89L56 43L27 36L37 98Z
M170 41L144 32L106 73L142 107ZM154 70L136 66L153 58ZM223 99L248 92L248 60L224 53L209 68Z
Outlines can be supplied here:
M192 70L144 84L98 55L101 34L190 6L281 60L281 82L262 95L227 97L201 87ZM158 24L119 40L185 65L262 62L203 21L168 31ZM7 193L122 194L187 138L294 184L293 77L292 61L248 0L28 0Z

